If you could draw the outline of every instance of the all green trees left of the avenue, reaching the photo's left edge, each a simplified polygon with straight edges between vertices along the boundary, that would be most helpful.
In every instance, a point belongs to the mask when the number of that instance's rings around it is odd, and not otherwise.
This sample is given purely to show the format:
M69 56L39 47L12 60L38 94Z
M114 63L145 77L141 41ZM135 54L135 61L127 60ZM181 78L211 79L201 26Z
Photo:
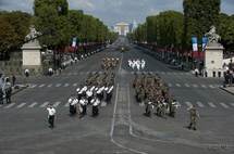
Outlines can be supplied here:
M73 37L78 42L98 43L116 38L116 34L111 33L100 20L83 11L69 10L66 0L35 0L34 15L2 11L0 21L0 55L20 49L30 25L35 25L41 34L40 43L50 49L71 44Z

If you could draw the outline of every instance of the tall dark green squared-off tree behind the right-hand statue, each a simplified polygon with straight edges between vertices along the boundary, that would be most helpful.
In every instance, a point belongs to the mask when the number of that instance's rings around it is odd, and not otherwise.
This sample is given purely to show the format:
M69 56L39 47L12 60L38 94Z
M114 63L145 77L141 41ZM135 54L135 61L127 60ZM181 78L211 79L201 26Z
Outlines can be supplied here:
M220 0L184 0L185 48L189 47L192 36L197 36L200 40L211 25L218 26L220 4Z

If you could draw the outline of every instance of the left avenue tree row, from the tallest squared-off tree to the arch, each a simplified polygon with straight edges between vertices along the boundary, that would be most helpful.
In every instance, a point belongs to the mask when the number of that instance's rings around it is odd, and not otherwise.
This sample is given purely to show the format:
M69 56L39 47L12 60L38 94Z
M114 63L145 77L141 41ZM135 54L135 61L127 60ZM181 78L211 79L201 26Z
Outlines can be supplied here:
M35 0L35 25L42 34L40 42L51 49L61 48L77 37L79 42L104 42L115 34L98 18L83 11L69 10L66 0Z

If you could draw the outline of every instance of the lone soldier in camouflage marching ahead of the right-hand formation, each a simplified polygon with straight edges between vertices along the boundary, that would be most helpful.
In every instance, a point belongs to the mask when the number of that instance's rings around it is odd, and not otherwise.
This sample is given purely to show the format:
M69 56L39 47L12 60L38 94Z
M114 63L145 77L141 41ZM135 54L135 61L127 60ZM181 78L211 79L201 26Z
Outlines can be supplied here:
M189 115L190 115L190 123L188 126L188 129L197 130L197 118L199 117L198 111L195 108L194 105L192 105L188 108Z

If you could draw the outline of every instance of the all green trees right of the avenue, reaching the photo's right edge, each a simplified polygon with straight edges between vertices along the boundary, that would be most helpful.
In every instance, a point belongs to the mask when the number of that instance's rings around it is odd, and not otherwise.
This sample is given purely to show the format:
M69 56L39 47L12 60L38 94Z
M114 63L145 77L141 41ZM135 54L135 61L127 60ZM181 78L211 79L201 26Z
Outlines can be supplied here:
M220 0L184 0L184 13L165 11L148 16L146 23L130 35L133 40L157 44L160 48L189 50L190 38L202 36L211 25L217 27L222 43L234 50L234 15L220 13Z

